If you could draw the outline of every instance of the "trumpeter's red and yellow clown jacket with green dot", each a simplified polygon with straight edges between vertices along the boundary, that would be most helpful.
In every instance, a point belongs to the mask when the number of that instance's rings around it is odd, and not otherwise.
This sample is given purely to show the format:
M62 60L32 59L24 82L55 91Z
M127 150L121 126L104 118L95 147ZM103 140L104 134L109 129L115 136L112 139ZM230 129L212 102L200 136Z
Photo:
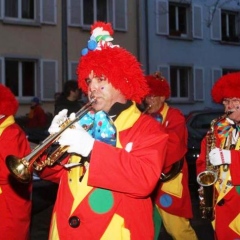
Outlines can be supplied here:
M81 181L81 167L67 171L56 166L41 173L59 182L49 239L153 239L150 194L163 167L168 135L135 104L114 125L116 147L95 141ZM69 162L74 161L79 159L72 156Z

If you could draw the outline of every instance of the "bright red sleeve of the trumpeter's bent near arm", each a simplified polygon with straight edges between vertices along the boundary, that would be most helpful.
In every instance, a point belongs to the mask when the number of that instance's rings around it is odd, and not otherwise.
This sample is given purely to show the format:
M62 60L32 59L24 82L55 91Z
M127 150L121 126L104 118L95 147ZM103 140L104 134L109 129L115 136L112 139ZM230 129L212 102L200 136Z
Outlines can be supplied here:
M168 135L159 123L149 119L151 121L142 122L135 130L120 133L122 149L95 141L89 185L139 198L153 191L164 164ZM132 149L127 151L126 146L132 146Z

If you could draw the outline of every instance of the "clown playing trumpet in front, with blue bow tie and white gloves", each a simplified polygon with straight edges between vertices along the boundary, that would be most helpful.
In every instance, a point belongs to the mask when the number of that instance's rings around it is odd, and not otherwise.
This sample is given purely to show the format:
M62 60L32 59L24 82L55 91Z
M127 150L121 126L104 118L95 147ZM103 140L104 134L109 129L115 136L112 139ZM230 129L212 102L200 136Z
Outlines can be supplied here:
M82 51L77 74L93 110L60 136L70 155L41 172L59 182L49 239L152 240L150 194L168 135L136 106L148 92L136 58L112 44L109 23L95 23L91 33L95 44ZM66 114L54 117L51 134Z

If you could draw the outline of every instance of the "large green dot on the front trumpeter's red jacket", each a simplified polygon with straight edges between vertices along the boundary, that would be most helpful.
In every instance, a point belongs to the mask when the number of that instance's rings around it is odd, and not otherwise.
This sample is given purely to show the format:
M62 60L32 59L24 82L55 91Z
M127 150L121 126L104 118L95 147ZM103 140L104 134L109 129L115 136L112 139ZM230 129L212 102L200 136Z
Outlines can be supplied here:
M90 194L88 202L94 212L106 213L113 206L113 194L109 190L96 189Z

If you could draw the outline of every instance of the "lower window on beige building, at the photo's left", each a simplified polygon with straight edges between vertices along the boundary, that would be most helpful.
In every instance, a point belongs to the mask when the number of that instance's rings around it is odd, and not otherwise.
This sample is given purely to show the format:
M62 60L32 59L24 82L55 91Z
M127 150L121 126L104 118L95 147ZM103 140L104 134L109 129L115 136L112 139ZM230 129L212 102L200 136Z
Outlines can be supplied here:
M5 84L15 96L35 96L35 65L32 60L6 59Z

